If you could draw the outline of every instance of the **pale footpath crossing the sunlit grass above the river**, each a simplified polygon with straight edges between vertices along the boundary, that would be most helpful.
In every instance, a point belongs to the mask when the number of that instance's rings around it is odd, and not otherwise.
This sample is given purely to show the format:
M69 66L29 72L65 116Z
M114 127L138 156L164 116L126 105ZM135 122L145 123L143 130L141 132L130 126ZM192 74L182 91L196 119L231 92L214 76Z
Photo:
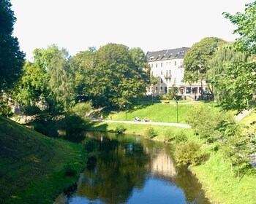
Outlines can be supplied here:
M181 124L181 123L171 123L171 122L135 122L135 121L117 121L117 120L108 120L108 119L94 119L94 121L100 121L100 122L108 122L108 123L127 123L127 124L142 124L142 125L165 125L165 126L175 126L175 127L184 127L184 128L190 128L187 124Z

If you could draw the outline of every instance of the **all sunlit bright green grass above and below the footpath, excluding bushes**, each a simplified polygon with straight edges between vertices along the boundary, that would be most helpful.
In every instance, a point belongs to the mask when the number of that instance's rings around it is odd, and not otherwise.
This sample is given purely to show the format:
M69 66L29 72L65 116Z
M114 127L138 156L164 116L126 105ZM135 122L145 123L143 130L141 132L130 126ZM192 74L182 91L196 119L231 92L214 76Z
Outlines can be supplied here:
M206 103L206 106L214 107L211 103ZM148 117L154 122L176 122L176 108L175 104L154 104L134 111L127 111L127 120L133 120L134 117ZM186 115L188 111L195 109L195 104L178 105L178 118L179 122L186 122ZM107 119L110 115L105 115ZM125 111L121 111L115 114L111 114L113 120L125 120ZM239 123L248 126L248 130L255 132L256 129L256 112L252 111L251 114L244 117ZM114 131L119 123L94 123L91 126L91 130L99 131ZM135 133L144 135L147 125L143 124L121 124L127 130L126 133ZM176 134L180 131L186 133L189 139L197 138L193 135L192 129L186 129L182 127L168 127L153 125L157 131L158 136L154 139L164 141L165 138L171 134ZM220 152L213 153L212 145L206 146L205 141L201 140L203 144L203 152L209 152L211 157L209 160L201 165L195 165L190 167L193 173L197 176L200 183L203 185L203 189L206 190L206 196L212 203L220 204L239 204L249 203L254 204L256 200L255 184L256 184L256 170L253 168L247 168L246 172L241 178L237 178L230 171L230 163L222 159Z

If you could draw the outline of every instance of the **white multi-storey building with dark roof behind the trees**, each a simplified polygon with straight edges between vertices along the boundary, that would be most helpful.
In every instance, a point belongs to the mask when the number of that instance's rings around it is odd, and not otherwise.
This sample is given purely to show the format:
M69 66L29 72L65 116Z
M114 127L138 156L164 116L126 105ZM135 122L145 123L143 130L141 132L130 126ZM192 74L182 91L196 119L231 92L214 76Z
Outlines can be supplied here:
M169 92L172 85L178 87L179 98L197 100L201 95L201 88L206 90L206 82L196 82L192 85L184 82L183 60L188 47L172 50L147 52L148 64L151 66L151 76L158 79L157 85L151 85L148 94L159 95Z

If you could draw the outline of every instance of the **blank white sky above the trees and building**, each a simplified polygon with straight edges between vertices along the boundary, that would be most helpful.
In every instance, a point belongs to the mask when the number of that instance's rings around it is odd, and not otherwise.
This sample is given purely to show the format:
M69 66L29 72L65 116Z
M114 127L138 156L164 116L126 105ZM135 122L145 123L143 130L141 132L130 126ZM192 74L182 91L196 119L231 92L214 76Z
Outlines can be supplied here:
M108 43L144 52L191 47L204 37L233 41L236 28L222 12L244 12L253 0L11 0L13 36L32 60L50 44L75 55Z

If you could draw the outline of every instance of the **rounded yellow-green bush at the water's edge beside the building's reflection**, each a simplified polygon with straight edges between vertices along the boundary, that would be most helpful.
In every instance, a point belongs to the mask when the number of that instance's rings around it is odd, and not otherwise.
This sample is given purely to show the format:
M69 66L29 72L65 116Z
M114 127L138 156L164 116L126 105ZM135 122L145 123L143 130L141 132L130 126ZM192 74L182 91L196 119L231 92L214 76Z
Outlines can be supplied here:
M200 156L200 144L196 141L181 142L176 146L174 157L178 166L195 165Z

